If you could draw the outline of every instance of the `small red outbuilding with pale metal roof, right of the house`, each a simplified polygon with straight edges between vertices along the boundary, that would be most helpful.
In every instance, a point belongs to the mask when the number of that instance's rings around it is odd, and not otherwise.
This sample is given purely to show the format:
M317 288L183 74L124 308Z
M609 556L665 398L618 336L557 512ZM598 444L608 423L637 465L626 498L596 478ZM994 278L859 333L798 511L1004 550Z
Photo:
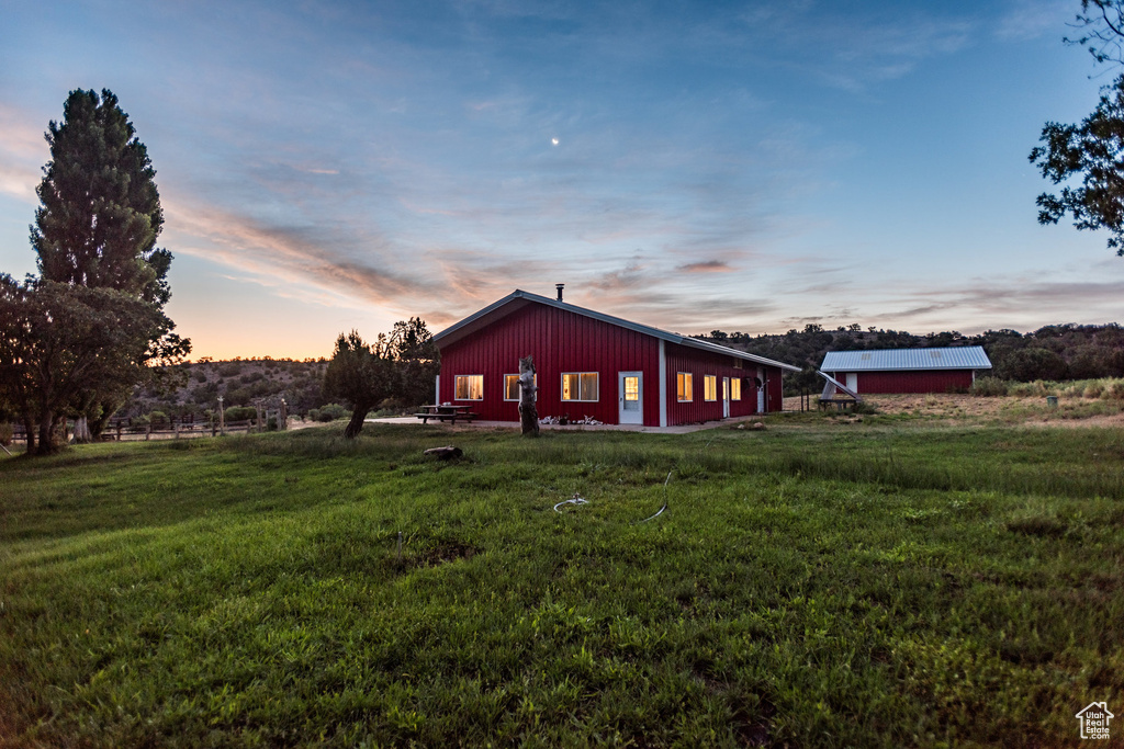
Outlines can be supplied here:
M819 367L859 394L964 392L990 368L980 346L828 351Z

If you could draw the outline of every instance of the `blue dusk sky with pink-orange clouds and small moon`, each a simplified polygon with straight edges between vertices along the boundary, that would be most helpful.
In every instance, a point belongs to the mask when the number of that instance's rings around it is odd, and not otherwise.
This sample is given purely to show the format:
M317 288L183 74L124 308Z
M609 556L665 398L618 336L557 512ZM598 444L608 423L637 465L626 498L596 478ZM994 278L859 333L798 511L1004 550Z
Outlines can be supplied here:
M555 283L683 334L1124 321L1124 258L1039 226L1027 162L1116 75L1079 8L0 0L0 272L35 271L48 121L108 88L194 357Z

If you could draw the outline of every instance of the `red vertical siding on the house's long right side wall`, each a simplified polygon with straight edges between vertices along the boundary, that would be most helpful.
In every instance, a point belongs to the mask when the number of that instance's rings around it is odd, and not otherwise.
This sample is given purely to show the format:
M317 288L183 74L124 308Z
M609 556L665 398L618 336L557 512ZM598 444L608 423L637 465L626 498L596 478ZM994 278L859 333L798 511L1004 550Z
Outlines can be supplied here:
M679 346L677 344L665 345L668 359L668 424L701 423L704 421L715 421L722 419L722 380L729 377L731 381L740 377L742 380L742 400L729 402L729 415L746 417L758 412L758 389L754 377L758 374L758 365L752 362L744 362L743 368L734 366L734 358L722 354L700 351L697 348ZM765 372L765 411L781 410L781 369L780 367L762 367ZM676 375L680 372L691 373L695 400L689 403L680 403L677 396ZM714 375L718 378L718 400L706 401L706 385L704 377ZM646 417L646 413L645 413ZM645 418L646 422L646 418Z

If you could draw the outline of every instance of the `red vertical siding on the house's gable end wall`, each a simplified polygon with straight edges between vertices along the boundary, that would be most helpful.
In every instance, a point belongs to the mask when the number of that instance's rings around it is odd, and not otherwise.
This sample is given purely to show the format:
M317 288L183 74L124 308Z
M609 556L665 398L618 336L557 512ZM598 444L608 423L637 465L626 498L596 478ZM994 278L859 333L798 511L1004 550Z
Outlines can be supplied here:
M619 421L617 373L644 373L644 423L660 424L659 341L651 336L568 310L528 304L441 349L441 401L471 403L481 419L518 421L519 404L504 400L504 375L531 355L538 375L538 415ZM597 372L596 402L562 401L563 372ZM484 377L482 401L454 401L456 375ZM720 404L719 404L720 405Z

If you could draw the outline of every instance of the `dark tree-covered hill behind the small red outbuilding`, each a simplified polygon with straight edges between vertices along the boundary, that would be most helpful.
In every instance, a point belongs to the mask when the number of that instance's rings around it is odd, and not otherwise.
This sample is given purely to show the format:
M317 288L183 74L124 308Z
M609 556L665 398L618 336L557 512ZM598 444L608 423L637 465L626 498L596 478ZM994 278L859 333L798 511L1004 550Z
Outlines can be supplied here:
M898 330L863 330L858 325L825 330L808 325L804 330L792 329L778 336L713 330L696 338L801 367L803 372L786 378L789 392L819 389L822 383L815 371L827 351L872 348L982 346L995 367L991 376L1016 382L1124 376L1124 329L1118 323L1054 325L1027 334L988 330L979 336L963 336L954 330L918 336Z

